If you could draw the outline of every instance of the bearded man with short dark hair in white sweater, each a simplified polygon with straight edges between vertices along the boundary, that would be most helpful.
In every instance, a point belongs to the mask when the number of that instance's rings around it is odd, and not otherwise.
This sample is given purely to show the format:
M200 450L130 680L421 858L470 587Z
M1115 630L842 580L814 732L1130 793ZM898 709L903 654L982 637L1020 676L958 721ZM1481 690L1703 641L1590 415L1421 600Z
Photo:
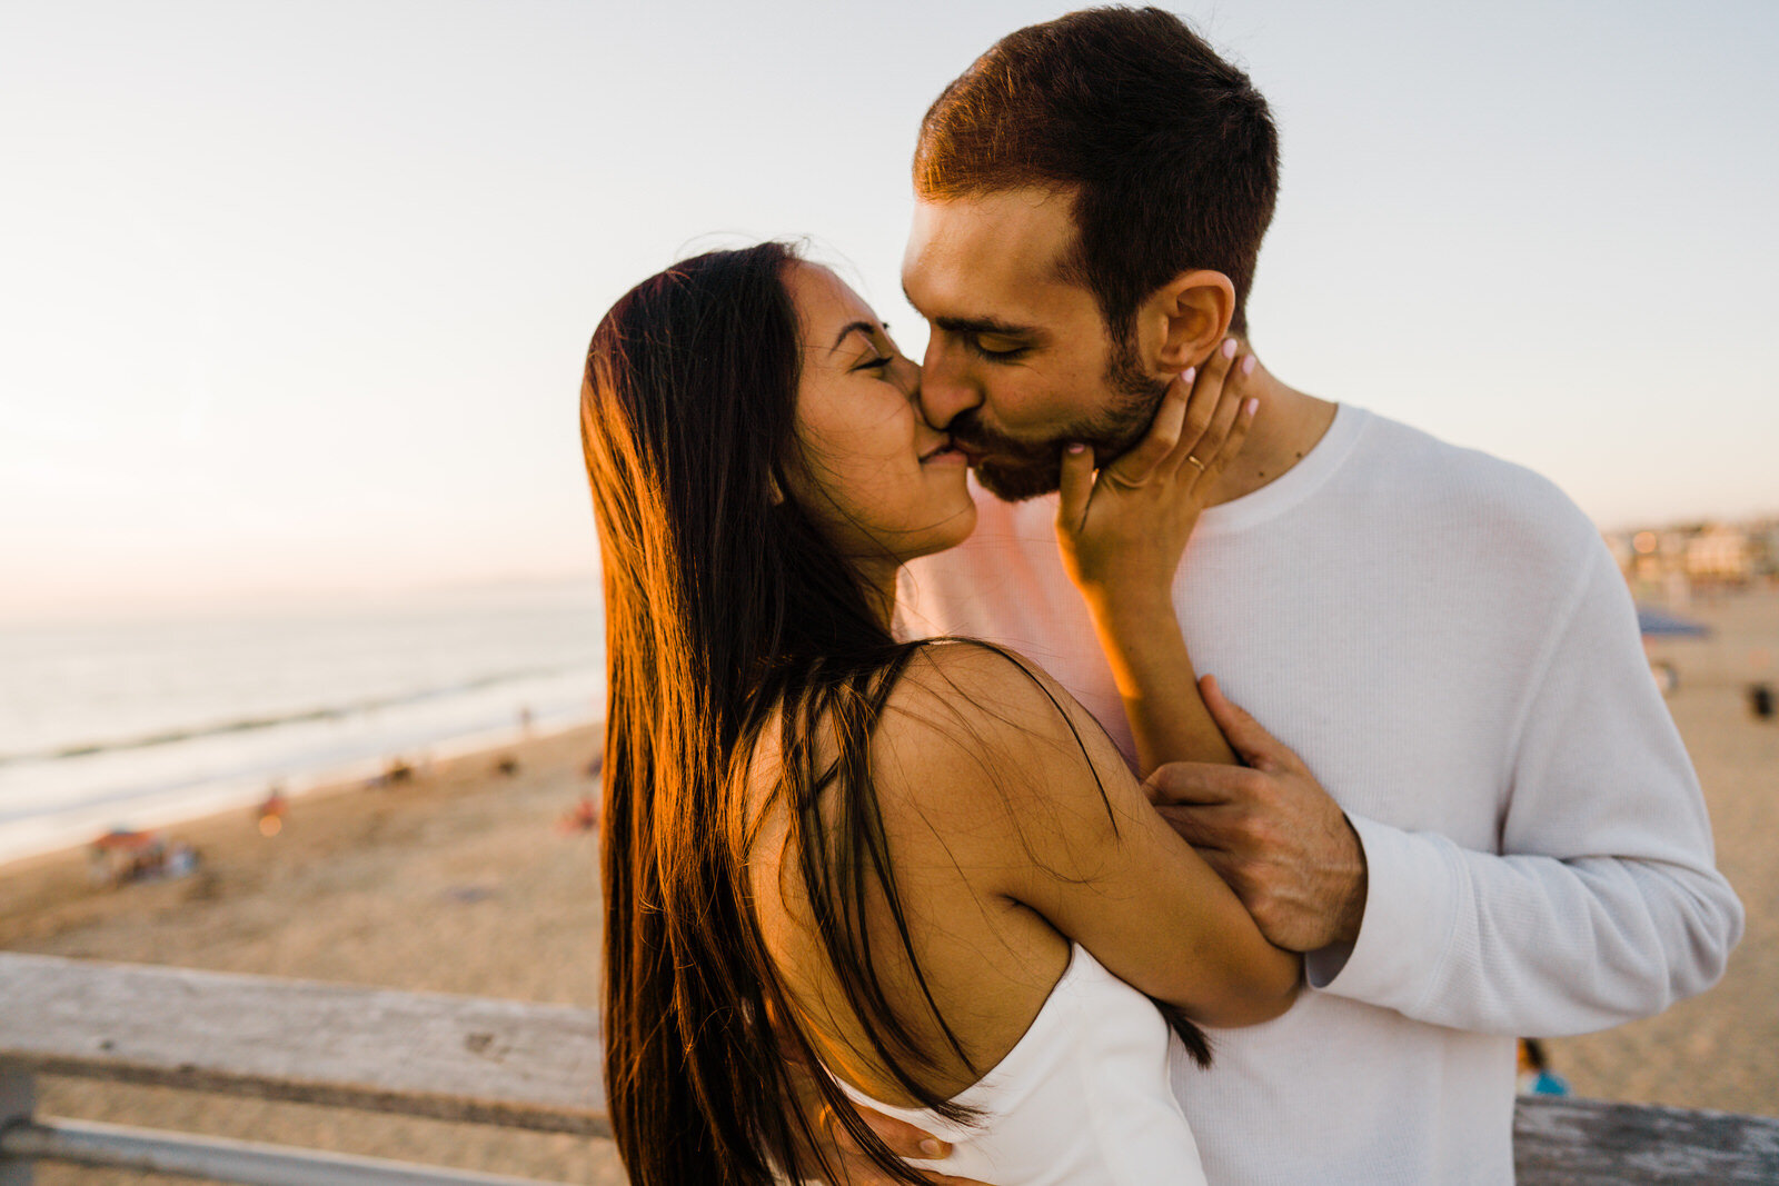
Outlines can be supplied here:
M1115 457L1162 377L1247 336L1265 100L1171 14L1075 12L939 96L914 185L922 402L1000 500L904 578L906 622L1026 653L1131 752L1039 496L1066 441ZM1174 1090L1213 1182L1509 1182L1514 1038L1701 992L1742 909L1580 510L1265 368L1245 391L1260 418L1174 596L1197 669L1267 729L1208 686L1247 768L1149 789L1311 989Z

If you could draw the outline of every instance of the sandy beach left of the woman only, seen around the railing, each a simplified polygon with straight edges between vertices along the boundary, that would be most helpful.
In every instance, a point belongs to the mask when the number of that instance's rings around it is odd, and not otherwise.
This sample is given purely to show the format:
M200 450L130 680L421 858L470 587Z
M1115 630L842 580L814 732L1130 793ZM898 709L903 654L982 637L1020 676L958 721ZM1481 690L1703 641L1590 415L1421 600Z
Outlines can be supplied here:
M0 948L594 1006L598 848L555 821L596 789L598 729L470 754L413 781L290 802L260 836L249 811L167 829L203 852L173 882L94 887L85 853L0 869ZM512 775L500 756L518 759ZM110 1120L560 1182L623 1182L608 1142L39 1081L48 1115ZM43 1186L187 1181L44 1165Z

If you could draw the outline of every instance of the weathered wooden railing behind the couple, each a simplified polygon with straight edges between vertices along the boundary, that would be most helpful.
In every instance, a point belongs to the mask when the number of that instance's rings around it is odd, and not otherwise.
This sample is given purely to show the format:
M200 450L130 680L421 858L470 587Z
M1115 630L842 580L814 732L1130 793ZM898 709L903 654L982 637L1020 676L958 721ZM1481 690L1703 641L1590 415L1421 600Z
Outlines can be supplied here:
M587 1010L0 953L0 1186L32 1165L262 1186L525 1179L36 1115L34 1076L607 1136ZM1521 1186L1779 1182L1779 1118L1521 1101ZM530 1182L528 1186L535 1186Z

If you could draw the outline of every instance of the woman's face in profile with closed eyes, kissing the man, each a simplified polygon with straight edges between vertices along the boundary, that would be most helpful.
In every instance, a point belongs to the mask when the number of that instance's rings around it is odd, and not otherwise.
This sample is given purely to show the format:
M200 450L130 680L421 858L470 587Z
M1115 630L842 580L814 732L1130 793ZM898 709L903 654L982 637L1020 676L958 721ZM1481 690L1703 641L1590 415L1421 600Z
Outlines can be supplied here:
M856 560L913 560L964 541L977 507L964 453L920 416L920 368L838 276L790 265L802 379L790 494Z

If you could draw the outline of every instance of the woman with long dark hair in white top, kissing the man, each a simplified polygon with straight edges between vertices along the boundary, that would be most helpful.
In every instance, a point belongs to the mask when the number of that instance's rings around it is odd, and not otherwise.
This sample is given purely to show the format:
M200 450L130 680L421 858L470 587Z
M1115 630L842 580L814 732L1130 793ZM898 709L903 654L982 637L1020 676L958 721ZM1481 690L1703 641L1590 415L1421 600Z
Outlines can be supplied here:
M1115 482L1062 459L1091 601L1171 580L1252 418L1231 361L1169 386ZM975 523L916 397L870 309L781 244L687 260L594 333L607 1088L632 1181L822 1174L808 1090L906 1181L852 1101L957 1136L946 1172L1000 1186L1190 1182L1163 1010L1204 1056L1192 1021L1295 992L1297 957L1066 692L984 644L891 635L900 564ZM1188 400L1215 407L1190 464ZM1117 539L1137 528L1155 544ZM1144 644L1185 663L1167 622ZM1174 699L1156 736L1190 752L1167 756L1228 761L1195 692Z

